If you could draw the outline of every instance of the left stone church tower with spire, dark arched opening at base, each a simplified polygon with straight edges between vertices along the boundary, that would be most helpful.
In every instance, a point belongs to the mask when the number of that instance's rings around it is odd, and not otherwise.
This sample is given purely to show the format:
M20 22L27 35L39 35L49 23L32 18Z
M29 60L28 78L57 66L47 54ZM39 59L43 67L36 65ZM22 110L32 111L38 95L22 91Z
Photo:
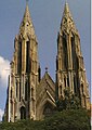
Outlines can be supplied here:
M8 95L8 121L36 119L36 88L39 83L38 42L28 4L14 40Z

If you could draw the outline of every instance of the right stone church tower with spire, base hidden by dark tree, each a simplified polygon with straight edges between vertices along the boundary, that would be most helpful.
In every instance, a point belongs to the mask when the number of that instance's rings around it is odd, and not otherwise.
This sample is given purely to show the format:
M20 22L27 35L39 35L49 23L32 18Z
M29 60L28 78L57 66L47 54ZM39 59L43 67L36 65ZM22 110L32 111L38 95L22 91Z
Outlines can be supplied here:
M69 89L73 94L80 99L82 107L90 107L89 88L80 48L80 37L68 3L65 3L57 36L56 100L64 98L65 89Z

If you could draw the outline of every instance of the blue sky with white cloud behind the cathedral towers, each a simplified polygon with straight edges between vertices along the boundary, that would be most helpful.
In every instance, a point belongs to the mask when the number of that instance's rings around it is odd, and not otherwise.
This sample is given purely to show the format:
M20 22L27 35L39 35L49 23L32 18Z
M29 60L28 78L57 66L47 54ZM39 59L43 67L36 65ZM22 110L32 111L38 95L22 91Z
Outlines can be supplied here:
M67 0L67 2L80 35L87 78L91 87L90 0ZM56 40L65 0L29 0L28 5L38 39L38 54L42 75L48 67L55 81ZM8 75L14 52L14 38L18 34L25 8L26 0L0 1L0 120L6 101Z

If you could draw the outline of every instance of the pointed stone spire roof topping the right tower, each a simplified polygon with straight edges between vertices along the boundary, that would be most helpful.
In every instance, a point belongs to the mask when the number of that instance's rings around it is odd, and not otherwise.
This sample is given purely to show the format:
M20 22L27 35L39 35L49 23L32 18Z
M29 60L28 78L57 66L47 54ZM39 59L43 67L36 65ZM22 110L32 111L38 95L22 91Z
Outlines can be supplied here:
M69 10L69 5L67 2L65 3L65 6L64 6L61 29L67 32L69 32L70 30L77 31L70 10Z

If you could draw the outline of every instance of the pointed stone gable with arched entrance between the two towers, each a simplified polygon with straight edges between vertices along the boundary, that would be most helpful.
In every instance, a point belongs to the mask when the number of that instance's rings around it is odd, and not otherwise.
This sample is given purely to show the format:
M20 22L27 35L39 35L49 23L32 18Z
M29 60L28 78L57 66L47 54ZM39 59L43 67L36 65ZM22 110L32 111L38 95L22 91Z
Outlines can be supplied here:
M49 74L44 74L37 88L37 119L42 119L55 108L55 83Z

